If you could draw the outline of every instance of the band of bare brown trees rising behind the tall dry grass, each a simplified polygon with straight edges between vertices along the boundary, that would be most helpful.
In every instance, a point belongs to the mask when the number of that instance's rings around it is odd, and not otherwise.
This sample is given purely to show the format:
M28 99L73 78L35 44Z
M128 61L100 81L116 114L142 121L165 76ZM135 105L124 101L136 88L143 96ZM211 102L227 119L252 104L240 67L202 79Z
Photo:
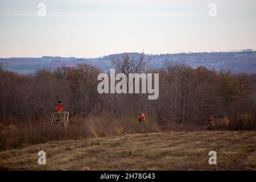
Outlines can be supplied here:
M158 100L148 100L147 94L99 94L97 76L102 71L86 64L55 71L40 69L27 75L0 68L0 121L49 118L61 100L71 118L105 114L137 121L143 111L149 121L161 127L173 123L203 126L210 113L226 113L231 123L240 122L246 114L255 126L255 73L192 69L171 61L165 61L161 69L146 70L145 57L135 60L129 55L113 60L113 66L116 72L124 72L128 70L122 69L129 66L127 63L136 65L139 61L144 62L138 73L159 73Z

